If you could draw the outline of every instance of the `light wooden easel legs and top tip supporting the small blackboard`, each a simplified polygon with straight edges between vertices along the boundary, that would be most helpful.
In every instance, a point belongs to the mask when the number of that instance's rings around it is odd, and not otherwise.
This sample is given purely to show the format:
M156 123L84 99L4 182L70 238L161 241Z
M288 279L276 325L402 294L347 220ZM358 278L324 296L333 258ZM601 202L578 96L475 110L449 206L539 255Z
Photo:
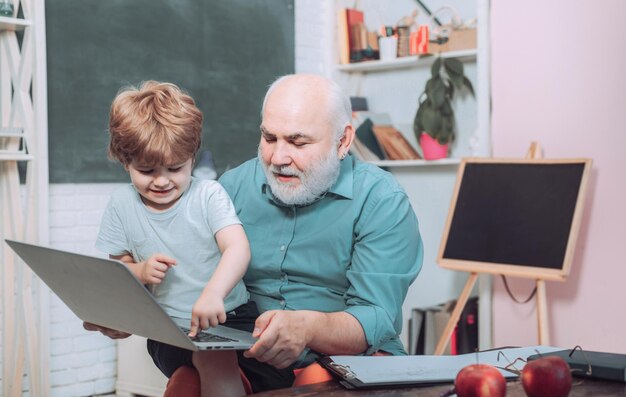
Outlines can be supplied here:
M540 159L541 156L541 146L537 142L532 142L530 144L530 148L526 153L527 159ZM461 318L461 312L465 308L467 304L467 300L472 292L472 288L474 288L474 284L476 284L476 280L478 279L478 273L472 272L469 275L469 278L465 282L465 286L459 295L456 305L454 306L454 310L450 314L450 319L444 328L439 341L437 342L437 347L435 348L435 354L441 355L443 354L446 346L450 342L450 338L452 337L452 333L454 332L454 327L459 322ZM535 285L537 288L536 293L536 302L537 302L537 333L539 337L540 345L549 345L550 344L550 332L548 329L548 305L546 300L546 284L543 279L536 279Z

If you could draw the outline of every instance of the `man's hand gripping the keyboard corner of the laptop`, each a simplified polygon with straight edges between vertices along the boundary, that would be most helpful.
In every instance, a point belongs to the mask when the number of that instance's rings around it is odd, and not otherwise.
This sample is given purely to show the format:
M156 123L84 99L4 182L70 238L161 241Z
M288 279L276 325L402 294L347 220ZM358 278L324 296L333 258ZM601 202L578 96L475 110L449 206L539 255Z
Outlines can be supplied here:
M252 333L259 340L243 355L279 369L288 367L308 345L311 323L320 314L304 310L270 310L261 314Z

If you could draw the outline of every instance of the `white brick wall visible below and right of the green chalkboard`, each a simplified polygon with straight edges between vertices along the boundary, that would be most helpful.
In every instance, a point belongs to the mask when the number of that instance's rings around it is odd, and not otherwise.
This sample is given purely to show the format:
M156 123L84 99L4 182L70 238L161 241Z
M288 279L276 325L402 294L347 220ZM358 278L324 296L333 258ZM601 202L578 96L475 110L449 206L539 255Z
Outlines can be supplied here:
M332 1L295 0L296 71L326 74L332 30ZM104 155L104 154L103 154ZM50 245L101 255L94 242L104 207L120 184L50 186ZM116 343L82 329L81 321L58 298L50 304L50 385L52 397L90 396L115 390Z

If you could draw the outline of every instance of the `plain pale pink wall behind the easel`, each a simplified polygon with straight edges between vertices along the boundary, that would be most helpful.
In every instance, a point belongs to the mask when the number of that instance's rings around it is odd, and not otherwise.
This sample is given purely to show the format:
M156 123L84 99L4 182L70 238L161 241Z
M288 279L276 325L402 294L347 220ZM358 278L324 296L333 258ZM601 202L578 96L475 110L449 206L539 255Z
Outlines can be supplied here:
M593 159L572 272L546 283L550 342L626 353L626 1L491 4L494 156L537 140L544 157ZM499 279L493 318L495 346L537 343L534 301Z

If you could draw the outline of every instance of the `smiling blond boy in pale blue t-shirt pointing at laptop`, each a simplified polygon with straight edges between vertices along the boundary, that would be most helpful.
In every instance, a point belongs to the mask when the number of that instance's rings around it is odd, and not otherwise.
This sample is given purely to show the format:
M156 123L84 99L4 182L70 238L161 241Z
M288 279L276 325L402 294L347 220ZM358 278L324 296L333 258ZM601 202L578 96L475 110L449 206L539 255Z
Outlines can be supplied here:
M202 132L194 100L169 83L124 89L109 131L109 156L132 184L111 197L96 246L126 263L170 316L188 319L190 336L220 323L251 331L258 312L241 280L246 234L222 186L191 176ZM203 396L244 394L235 352L192 353L152 340L148 351L168 377L180 365L212 374L203 377Z

